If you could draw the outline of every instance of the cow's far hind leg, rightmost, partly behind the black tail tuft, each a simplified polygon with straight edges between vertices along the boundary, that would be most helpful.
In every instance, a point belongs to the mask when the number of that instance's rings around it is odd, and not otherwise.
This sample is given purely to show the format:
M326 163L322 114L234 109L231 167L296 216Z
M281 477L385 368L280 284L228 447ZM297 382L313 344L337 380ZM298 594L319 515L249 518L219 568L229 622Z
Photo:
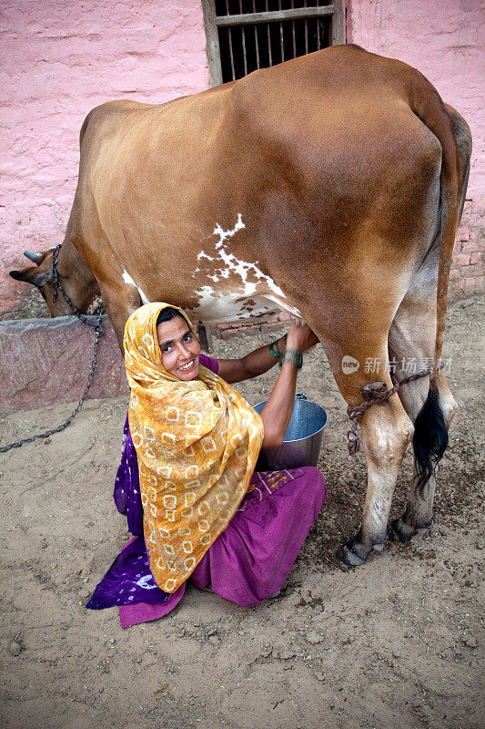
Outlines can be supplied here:
M430 252L416 274L409 292L399 306L389 331L389 358L395 363L398 380L413 371L427 369L433 362L436 338L436 276L438 251ZM456 410L446 377L440 370L436 389L429 390L429 377L403 385L399 398L410 420L416 424L415 452L426 452L429 446L446 447L448 428ZM408 505L400 519L389 527L393 539L408 541L422 533L432 521L433 498L436 487L434 470L429 477L419 477L416 455L409 490Z

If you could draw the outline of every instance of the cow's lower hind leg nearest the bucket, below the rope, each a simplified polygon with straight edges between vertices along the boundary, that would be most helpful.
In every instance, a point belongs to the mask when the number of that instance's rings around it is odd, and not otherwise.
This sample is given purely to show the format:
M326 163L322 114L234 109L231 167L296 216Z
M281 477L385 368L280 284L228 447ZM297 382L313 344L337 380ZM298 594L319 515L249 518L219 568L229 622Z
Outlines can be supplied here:
M360 565L371 549L383 547L399 467L412 431L398 395L392 395L385 406L371 406L360 420L368 488L359 533L338 552L346 564Z

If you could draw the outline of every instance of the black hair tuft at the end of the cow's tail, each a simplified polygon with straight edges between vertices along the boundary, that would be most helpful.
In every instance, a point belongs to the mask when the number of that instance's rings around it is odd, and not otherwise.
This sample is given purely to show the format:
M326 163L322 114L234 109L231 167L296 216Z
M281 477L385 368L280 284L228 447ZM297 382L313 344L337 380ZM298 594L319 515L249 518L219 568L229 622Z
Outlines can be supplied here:
M448 430L436 386L429 387L426 402L416 417L412 445L418 470L417 486L422 488L433 475L448 447Z

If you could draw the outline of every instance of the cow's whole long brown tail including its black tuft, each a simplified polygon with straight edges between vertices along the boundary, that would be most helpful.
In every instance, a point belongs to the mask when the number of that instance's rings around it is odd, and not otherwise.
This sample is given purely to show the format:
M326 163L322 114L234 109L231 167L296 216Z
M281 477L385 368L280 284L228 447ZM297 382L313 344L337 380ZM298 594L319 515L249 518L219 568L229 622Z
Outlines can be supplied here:
M440 141L440 262L437 287L437 316L434 360L429 375L429 393L414 424L413 447L416 457L418 488L422 488L435 472L448 446L448 429L440 406L437 385L443 336L446 325L446 304L450 279L451 256L460 213L460 155L450 116L440 95L422 77L410 106Z

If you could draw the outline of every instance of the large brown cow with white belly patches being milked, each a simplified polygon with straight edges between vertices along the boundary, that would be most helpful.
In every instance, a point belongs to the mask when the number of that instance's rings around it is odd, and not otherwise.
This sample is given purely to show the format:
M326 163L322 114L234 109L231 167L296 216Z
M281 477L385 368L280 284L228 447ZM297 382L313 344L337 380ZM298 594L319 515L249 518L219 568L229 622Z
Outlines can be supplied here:
M418 71L357 46L161 106L110 102L81 130L58 270L75 303L81 278L85 307L98 293L94 273L120 342L145 301L176 303L204 322L275 306L296 313L318 334L350 406L364 385L391 387L389 357L398 379L403 359L429 361L430 377L360 421L368 492L359 534L341 549L359 564L386 539L413 424L415 477L391 531L409 539L431 522L432 467L455 408L439 361L469 168L460 115ZM47 273L47 300L50 262L35 270Z

